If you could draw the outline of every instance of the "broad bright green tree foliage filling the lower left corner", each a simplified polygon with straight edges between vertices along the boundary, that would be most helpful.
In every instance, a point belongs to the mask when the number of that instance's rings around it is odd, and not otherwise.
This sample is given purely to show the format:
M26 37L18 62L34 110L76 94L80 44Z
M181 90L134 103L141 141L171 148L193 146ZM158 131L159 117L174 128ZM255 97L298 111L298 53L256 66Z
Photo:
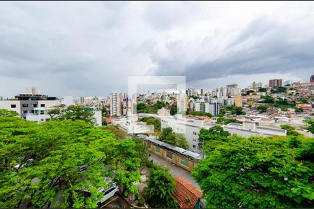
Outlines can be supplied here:
M137 194L133 183L147 160L138 141L117 140L80 120L38 124L0 116L0 147L0 208L66 208L70 199L71 207L96 208L105 176Z

